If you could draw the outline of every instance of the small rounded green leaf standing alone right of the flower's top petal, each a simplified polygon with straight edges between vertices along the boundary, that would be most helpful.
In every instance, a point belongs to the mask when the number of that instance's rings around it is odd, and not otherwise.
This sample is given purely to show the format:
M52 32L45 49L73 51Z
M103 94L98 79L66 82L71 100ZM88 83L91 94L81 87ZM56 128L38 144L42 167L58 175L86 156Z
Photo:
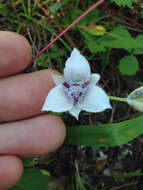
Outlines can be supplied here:
M135 75L139 70L139 63L135 56L125 56L120 60L118 68L123 75Z

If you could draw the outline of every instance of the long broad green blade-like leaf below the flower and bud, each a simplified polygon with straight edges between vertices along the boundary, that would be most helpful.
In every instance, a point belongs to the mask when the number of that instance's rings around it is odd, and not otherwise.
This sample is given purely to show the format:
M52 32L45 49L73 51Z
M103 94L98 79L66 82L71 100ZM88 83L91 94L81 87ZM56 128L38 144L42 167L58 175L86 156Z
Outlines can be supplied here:
M143 116L114 124L67 127L66 144L118 146L143 133Z

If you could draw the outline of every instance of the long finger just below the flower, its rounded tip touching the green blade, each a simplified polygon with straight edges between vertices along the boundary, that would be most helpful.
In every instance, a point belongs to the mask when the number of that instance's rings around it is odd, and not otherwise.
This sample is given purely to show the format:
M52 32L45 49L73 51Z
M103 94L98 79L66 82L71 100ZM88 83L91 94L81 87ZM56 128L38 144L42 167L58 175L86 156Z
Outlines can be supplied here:
M1 124L0 154L37 156L54 151L65 138L65 126L55 115Z

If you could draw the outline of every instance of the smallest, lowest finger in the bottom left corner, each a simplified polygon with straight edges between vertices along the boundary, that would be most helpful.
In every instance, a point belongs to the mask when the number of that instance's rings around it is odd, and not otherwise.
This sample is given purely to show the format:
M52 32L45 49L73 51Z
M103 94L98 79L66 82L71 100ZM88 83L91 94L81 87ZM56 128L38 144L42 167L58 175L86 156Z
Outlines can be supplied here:
M0 156L0 190L15 185L22 176L23 166L16 156Z

